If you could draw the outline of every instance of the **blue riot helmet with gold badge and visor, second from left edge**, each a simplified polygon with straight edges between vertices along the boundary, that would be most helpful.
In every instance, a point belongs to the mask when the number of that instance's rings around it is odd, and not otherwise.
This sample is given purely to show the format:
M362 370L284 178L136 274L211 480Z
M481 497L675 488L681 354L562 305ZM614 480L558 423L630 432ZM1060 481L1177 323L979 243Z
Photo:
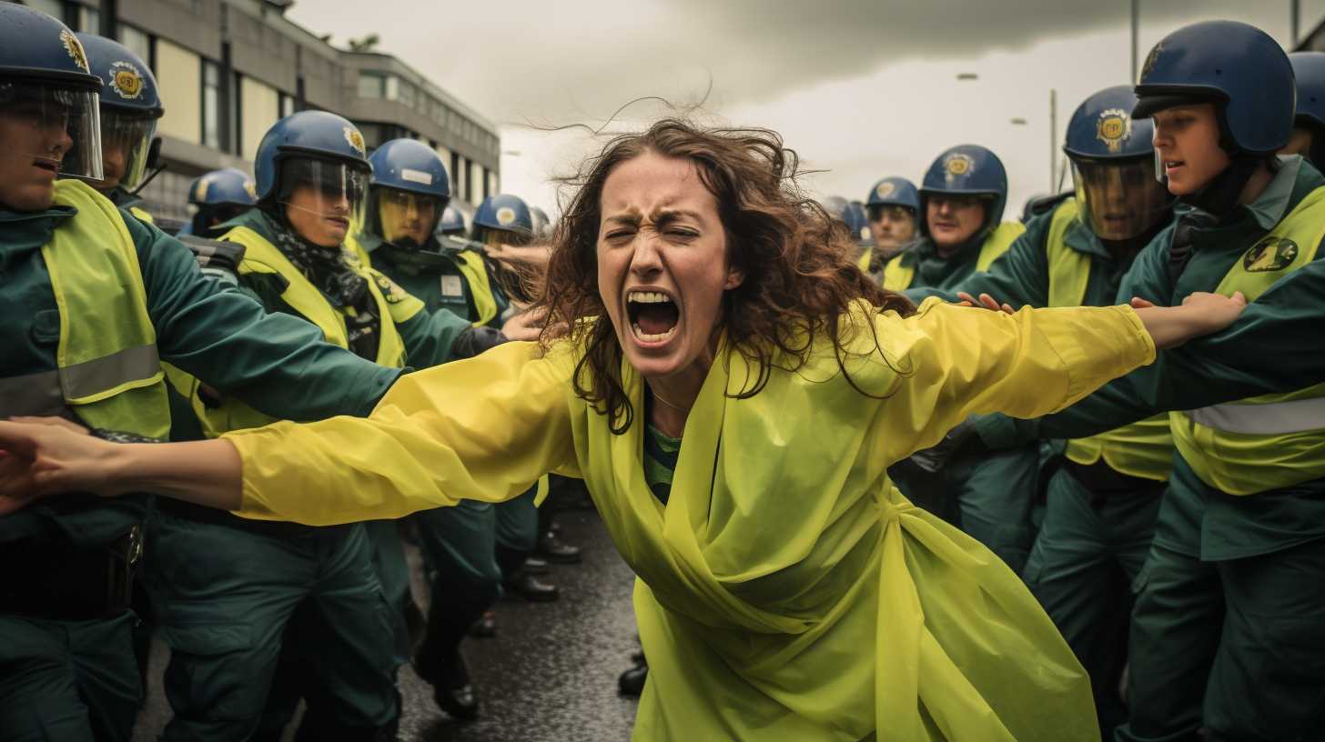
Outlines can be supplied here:
M166 109L156 91L156 78L138 54L103 36L80 33L87 64L101 77L101 158L103 179L98 188L138 188L155 163L151 156L156 119Z

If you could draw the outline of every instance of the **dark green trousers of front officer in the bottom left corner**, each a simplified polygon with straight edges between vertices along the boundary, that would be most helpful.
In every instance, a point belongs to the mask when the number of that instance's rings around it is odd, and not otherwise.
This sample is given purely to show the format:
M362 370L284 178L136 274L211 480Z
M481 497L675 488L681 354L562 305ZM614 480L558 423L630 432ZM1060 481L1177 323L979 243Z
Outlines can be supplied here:
M132 612L54 621L0 615L0 739L129 742L142 685Z

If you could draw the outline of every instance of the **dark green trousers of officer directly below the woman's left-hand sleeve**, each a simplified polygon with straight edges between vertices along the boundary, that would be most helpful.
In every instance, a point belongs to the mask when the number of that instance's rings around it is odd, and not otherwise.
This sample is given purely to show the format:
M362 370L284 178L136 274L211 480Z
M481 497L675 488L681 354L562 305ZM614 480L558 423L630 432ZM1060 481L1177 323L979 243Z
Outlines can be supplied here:
M171 647L163 739L248 739L286 633L341 739L395 726L394 621L362 525L207 523L163 513L147 586Z

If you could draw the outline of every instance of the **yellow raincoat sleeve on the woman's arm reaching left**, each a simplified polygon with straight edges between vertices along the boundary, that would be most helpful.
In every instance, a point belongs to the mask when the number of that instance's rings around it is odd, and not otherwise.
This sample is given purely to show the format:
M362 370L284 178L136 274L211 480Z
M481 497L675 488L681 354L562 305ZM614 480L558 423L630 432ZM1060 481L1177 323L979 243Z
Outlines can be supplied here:
M237 515L323 526L498 502L550 470L578 476L568 352L505 343L401 376L367 419L225 436L244 462Z

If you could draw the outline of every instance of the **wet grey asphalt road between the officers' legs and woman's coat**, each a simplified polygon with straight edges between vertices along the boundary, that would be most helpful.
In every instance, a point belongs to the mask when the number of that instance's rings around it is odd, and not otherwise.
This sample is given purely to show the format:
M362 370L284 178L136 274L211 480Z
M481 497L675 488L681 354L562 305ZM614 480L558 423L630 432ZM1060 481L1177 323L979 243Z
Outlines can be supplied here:
M437 709L432 686L408 666L398 684L404 698L399 739L404 742L624 741L635 722L635 700L616 693L616 677L639 651L631 610L633 576L612 547L596 513L558 510L562 538L583 550L580 564L553 564L543 578L560 588L555 603L502 598L496 639L469 637L462 651L480 692L481 716L460 723ZM427 606L412 547L415 598ZM168 649L154 641L147 708L134 742L155 739L170 719L162 690ZM286 734L290 738L290 734Z

